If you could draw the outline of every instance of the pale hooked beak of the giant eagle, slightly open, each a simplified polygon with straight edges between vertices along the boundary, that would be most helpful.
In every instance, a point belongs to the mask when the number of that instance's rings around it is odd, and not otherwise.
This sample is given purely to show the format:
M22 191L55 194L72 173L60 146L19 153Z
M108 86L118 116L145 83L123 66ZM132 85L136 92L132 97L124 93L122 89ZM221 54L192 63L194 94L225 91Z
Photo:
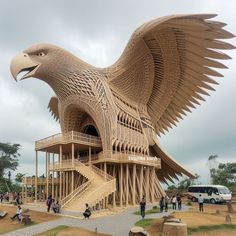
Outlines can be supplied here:
M39 64L36 64L31 60L27 53L20 53L16 55L11 61L11 74L17 81L17 75L20 72L26 71L27 73L20 78L20 80L23 80L32 77L37 70L38 65Z

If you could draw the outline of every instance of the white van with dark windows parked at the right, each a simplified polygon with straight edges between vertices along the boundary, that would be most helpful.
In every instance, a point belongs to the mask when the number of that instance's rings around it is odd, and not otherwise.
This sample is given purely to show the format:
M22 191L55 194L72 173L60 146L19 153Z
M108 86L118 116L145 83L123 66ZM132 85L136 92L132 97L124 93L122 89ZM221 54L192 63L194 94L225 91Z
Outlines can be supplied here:
M205 202L223 203L231 201L232 194L230 190L223 185L191 185L188 188L188 197L192 201L197 201L199 195L202 195Z

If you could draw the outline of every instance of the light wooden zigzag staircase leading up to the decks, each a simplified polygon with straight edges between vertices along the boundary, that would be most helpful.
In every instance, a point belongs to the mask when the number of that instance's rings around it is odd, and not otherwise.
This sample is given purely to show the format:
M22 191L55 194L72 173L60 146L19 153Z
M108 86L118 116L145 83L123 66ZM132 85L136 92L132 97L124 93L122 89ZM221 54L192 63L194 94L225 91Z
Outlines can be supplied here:
M62 199L61 204L64 210L84 211L86 203L93 207L116 191L116 179L96 166L87 166L76 161L74 169L88 181Z

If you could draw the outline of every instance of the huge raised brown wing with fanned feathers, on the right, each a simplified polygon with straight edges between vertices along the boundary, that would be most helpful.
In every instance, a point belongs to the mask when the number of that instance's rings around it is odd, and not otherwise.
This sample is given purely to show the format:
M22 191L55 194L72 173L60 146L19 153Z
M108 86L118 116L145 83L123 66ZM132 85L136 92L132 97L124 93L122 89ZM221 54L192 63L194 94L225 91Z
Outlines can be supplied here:
M143 107L160 135L195 108L210 84L222 77L214 68L230 59L219 49L233 49L222 39L234 37L216 15L159 18L139 27L118 61L107 68L113 91Z

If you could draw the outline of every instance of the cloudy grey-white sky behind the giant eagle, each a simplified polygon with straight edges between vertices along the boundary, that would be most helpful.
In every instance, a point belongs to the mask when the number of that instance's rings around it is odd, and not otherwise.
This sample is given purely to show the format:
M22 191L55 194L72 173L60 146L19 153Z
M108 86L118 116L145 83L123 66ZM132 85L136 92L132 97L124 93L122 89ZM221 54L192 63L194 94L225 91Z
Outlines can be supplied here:
M34 174L34 141L60 132L47 105L52 89L37 79L16 83L11 58L36 43L52 43L86 62L106 67L122 53L142 23L170 14L217 13L218 21L236 34L234 0L0 0L0 142L20 143L18 172ZM231 42L236 45L235 40ZM228 70L220 71L216 92L178 127L160 139L164 149L208 182L207 158L236 161L236 50ZM44 155L40 156L40 174Z

